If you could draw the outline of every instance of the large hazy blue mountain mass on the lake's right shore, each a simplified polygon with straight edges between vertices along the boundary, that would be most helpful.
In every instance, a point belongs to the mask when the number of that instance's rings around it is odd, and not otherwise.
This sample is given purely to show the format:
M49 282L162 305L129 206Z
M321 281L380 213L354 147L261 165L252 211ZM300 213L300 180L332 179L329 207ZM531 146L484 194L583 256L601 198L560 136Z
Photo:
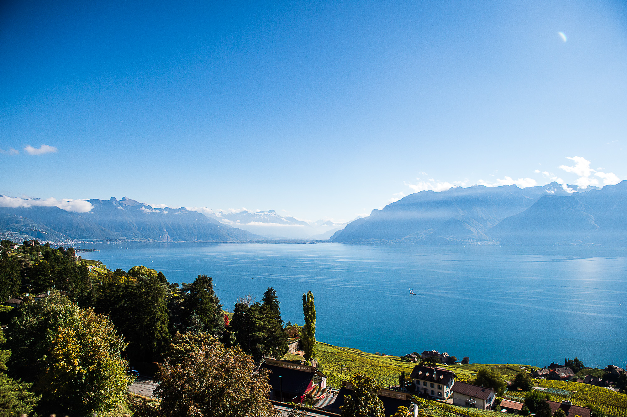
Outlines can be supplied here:
M406 244L556 244L624 241L627 181L587 192L561 185L422 191L372 210L330 241Z

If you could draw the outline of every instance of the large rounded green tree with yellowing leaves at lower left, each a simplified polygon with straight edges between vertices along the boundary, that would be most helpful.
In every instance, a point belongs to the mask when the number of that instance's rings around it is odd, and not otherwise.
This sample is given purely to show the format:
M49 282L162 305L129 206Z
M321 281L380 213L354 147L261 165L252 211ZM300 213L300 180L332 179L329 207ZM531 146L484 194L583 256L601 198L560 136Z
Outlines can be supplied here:
M9 329L9 370L34 383L40 411L85 415L125 398L124 341L108 317L52 291L22 304Z

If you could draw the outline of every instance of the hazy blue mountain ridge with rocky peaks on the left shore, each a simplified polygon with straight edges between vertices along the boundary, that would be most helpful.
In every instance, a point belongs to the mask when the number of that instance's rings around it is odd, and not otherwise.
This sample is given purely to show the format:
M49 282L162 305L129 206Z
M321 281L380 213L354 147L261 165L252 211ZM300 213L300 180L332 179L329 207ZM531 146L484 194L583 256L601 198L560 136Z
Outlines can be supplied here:
M187 209L153 209L122 198L88 200L93 209L75 213L57 207L0 207L1 230L41 240L241 241L262 239ZM19 220L18 220L19 219Z

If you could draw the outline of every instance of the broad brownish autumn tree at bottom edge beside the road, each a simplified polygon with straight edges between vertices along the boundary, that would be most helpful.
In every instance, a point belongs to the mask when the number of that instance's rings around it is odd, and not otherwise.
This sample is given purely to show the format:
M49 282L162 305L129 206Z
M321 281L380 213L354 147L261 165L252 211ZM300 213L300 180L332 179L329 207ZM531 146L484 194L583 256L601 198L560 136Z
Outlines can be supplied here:
M240 348L225 348L215 337L176 334L155 381L161 415L171 417L276 416L268 401L269 371Z

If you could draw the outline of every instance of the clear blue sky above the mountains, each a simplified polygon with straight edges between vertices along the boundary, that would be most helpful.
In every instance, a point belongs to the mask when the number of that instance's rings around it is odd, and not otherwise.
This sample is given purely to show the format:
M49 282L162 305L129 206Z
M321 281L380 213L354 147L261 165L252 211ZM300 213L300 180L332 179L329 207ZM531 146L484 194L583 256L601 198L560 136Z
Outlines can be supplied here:
M446 183L627 178L622 1L7 1L0 56L15 197L350 220Z

